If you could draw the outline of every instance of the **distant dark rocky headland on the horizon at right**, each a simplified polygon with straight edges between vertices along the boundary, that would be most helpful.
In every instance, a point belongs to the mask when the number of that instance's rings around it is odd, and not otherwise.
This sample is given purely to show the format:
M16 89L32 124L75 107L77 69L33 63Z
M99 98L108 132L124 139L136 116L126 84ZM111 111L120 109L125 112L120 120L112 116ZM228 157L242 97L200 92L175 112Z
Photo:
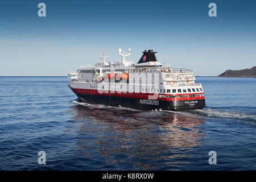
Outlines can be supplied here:
M256 77L256 67L251 69L227 70L218 77Z

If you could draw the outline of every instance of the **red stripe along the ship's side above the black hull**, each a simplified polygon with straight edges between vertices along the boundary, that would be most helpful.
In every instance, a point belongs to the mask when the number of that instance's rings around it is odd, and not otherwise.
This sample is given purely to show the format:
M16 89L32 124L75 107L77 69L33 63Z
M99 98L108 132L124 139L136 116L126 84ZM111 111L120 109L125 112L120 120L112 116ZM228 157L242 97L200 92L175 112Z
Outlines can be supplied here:
M141 98L141 99L148 99L150 96L154 96L154 93L119 93L114 92L113 90L110 92L108 90L100 90L99 93L98 90L94 89L76 89L72 88L73 92L77 94L89 94L89 95L100 95L100 96L115 96L115 97L129 97L129 98ZM104 93L108 92L108 93ZM199 94L201 97L197 97L197 94ZM168 97L172 96L172 94L159 94L158 98L156 100L162 100L162 101L186 101L186 100L200 100L204 99L203 92L202 93L186 93L186 94L175 94L176 98L160 98L161 97ZM189 95L189 97L185 97ZM191 97L195 96L195 97ZM182 97L182 98L177 98Z

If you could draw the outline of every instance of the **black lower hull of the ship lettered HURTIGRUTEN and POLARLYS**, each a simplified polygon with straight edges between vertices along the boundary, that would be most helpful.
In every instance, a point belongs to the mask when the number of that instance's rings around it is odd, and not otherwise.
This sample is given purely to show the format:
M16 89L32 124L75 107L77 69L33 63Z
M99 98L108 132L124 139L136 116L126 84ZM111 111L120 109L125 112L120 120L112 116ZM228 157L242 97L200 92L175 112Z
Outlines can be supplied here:
M74 90L73 90L74 92ZM162 100L146 100L143 98L102 96L96 94L76 93L82 102L88 104L101 104L108 106L122 106L138 110L194 110L203 109L205 100L183 100L183 101L162 101Z

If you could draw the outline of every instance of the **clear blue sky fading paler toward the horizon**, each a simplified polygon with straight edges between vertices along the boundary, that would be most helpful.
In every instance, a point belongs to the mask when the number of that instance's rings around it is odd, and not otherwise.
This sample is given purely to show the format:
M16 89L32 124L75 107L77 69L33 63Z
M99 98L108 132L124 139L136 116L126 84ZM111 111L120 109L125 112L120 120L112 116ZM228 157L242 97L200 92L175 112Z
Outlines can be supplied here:
M38 4L46 3L46 17ZM217 5L217 17L208 5ZM65 76L105 50L144 49L199 76L256 64L255 1L5 1L0 4L0 76Z

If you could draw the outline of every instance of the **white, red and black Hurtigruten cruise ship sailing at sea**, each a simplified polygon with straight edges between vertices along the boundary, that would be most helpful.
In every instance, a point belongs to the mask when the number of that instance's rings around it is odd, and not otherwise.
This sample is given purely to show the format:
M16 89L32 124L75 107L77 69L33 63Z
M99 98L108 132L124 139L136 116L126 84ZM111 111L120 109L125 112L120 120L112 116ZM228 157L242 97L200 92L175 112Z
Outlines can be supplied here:
M137 64L126 60L106 61L68 72L69 88L88 104L129 107L138 110L193 110L205 107L204 90L193 71L161 64L153 50L145 50Z

